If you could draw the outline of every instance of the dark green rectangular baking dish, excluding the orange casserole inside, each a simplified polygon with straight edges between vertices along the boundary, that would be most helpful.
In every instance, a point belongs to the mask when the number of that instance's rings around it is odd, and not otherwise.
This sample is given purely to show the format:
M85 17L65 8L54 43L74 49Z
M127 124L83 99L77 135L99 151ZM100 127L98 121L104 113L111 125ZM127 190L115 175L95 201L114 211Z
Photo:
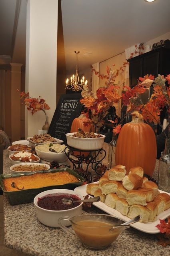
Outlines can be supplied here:
M15 204L25 204L25 203L31 203L34 201L34 197L38 195L39 193L50 190L50 189L56 189L56 188L65 188L65 189L70 189L74 190L74 188L80 186L84 182L84 178L82 178L79 174L71 170L70 168L58 168L58 169L51 169L51 170L44 170L44 171L39 171L38 173L44 173L44 172L68 172L72 175L74 175L76 178L78 178L78 182L72 182L72 183L67 183L63 185L53 185L53 186L47 186L47 187L41 187L41 188L30 188L30 189L24 189L24 190L18 190L18 191L6 191L4 188L4 179L7 178L12 178L12 177L20 177L20 176L29 176L33 175L37 172L26 172L26 173L17 173L17 174L1 174L0 175L0 186L6 194L8 198L8 202L11 205Z

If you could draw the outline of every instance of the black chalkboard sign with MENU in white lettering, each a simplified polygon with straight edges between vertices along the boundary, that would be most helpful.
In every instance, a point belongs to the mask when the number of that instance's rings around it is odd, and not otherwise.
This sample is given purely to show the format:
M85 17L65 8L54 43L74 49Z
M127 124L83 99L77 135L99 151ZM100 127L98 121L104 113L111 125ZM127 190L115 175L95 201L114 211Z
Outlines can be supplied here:
M81 113L81 94L62 94L52 118L48 134L54 138L64 140L66 133L70 132L72 121Z

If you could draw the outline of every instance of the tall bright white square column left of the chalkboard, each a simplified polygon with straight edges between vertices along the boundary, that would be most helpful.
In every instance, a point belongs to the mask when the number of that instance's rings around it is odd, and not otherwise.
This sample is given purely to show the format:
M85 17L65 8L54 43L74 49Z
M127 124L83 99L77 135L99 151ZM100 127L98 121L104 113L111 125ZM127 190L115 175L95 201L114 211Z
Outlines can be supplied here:
M26 92L33 98L41 96L50 106L46 110L49 123L56 109L58 1L28 0L26 22ZM38 134L45 124L45 114L33 116L26 110L27 136Z

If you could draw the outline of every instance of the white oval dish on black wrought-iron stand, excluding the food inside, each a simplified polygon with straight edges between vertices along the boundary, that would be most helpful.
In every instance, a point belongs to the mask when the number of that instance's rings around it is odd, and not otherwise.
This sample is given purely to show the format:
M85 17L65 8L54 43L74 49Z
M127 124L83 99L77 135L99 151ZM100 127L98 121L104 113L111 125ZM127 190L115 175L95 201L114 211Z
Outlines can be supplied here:
M103 148L105 135L101 134L102 137L99 138L77 138L72 136L74 133L75 132L66 133L68 146L80 150L98 150Z

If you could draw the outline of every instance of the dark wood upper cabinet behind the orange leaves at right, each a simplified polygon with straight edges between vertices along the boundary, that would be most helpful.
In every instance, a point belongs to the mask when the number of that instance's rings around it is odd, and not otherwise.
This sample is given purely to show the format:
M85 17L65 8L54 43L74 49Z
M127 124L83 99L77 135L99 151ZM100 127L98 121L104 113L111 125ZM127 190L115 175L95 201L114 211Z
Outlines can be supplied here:
M129 86L138 83L138 78L146 74L166 76L170 74L170 49L158 48L146 52L128 60L129 62Z

